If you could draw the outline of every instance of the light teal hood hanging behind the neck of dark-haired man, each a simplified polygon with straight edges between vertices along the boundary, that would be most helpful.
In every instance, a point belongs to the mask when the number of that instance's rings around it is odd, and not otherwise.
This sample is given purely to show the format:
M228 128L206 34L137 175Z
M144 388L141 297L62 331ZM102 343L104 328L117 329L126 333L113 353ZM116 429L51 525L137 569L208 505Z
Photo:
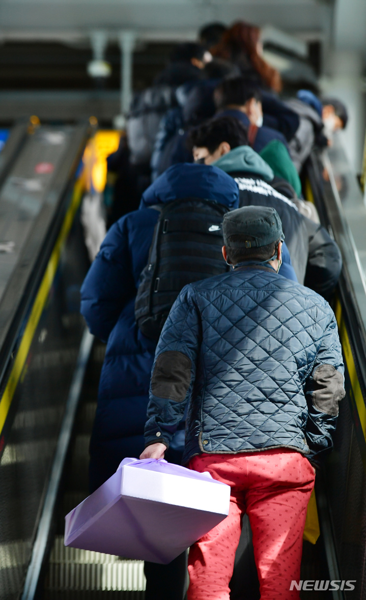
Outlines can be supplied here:
M227 152L227 154L224 154L224 156L213 164L225 173L244 171L255 173L265 181L272 181L274 178L271 167L250 146L238 146L238 148L234 148L230 152Z

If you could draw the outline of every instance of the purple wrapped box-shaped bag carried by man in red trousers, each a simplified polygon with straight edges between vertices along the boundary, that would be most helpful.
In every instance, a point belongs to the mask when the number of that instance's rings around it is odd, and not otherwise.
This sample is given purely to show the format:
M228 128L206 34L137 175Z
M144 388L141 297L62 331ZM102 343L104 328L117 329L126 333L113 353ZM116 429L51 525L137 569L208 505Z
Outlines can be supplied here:
M167 564L229 514L230 487L166 460L125 458L65 517L65 546Z

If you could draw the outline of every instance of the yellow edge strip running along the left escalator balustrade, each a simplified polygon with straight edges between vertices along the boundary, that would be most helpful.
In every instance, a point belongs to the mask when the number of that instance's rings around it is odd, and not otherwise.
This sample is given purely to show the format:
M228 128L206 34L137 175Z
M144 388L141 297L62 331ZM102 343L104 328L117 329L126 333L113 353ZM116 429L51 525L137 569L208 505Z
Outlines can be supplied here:
M35 297L32 311L26 324L22 341L20 342L19 349L14 359L14 364L11 369L11 373L5 387L4 394L0 400L0 434L4 427L5 420L8 416L11 401L13 400L14 392L16 390L17 383L22 374L23 367L25 365L26 358L28 356L29 348L31 347L32 339L34 337L35 329L37 328L41 314L43 312L44 305L46 304L50 288L55 278L55 274L58 268L59 259L61 256L62 248L64 247L68 233L70 232L71 225L79 208L82 195L84 190L84 182L80 178L77 180L73 196L71 198L70 206L65 215L64 223L62 223L61 231L59 232L56 244L53 247L52 254L46 267L46 271L43 275L40 287Z

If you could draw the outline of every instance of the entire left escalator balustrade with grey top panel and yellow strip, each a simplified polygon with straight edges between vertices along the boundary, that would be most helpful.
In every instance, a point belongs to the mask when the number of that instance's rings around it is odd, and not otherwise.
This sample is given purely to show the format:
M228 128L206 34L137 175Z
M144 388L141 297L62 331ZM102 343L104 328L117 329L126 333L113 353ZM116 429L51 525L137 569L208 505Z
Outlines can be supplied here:
M31 559L85 325L77 167L87 125L17 126L0 160L0 597Z

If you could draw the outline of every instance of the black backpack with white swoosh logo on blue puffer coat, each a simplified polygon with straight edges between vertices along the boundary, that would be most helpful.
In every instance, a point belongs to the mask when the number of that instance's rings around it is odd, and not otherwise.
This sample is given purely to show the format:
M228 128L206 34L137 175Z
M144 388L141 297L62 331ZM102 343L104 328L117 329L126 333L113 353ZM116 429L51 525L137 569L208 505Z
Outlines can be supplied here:
M163 206L140 276L135 302L137 325L158 340L182 287L229 270L221 254L221 225L229 209L212 200L185 198Z

